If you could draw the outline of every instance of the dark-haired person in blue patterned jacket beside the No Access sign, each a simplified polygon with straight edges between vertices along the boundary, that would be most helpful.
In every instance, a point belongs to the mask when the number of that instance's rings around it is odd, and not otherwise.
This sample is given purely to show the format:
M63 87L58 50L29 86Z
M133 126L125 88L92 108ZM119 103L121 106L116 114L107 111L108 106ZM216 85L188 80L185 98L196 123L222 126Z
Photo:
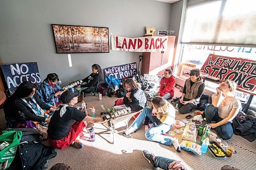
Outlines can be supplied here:
M57 84L58 81L59 77L56 73L48 74L38 88L38 96L49 106L57 107L60 104L59 96L62 91L60 91L61 87Z

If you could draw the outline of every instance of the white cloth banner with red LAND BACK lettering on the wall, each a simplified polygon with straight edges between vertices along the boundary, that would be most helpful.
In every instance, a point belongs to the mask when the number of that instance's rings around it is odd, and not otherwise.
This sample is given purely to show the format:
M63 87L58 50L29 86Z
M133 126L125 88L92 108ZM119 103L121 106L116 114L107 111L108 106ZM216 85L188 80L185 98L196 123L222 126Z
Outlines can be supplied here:
M148 36L125 38L111 36L112 50L128 52L161 52L167 51L168 36Z

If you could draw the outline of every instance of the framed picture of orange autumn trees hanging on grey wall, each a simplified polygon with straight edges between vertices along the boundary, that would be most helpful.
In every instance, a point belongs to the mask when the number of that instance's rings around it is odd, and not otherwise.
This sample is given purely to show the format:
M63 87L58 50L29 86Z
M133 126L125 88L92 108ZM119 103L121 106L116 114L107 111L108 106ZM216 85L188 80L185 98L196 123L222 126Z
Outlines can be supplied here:
M56 53L109 53L109 28L52 24Z

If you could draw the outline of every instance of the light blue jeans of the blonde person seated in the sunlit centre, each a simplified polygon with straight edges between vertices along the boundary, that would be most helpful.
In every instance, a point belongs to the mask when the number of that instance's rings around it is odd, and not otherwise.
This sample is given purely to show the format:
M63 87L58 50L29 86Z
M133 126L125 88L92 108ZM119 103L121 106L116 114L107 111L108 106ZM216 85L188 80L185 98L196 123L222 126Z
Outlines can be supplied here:
M134 120L131 128L133 130L139 129L142 121L147 116L152 122L154 122L153 117L151 115L152 109L149 107L145 107L143 111L139 114L139 116ZM166 133L170 130L171 125L161 124L158 127L151 126L145 133L145 137L147 140L157 141L159 143L165 145L171 145L173 143L173 138L169 136L162 135L162 133Z

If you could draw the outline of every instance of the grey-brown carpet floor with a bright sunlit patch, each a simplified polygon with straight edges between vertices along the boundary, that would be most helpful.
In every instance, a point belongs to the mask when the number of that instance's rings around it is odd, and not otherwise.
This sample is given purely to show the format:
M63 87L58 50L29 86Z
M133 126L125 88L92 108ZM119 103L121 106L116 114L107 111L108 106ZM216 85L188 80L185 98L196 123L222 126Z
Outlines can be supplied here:
M84 101L88 104L88 108L95 106L96 112L99 115L103 112L100 105L105 108L112 107L115 97L109 98L103 96L102 101L97 100L97 96L87 96ZM0 128L5 129L5 119L3 109L0 109ZM186 116L177 115L177 118L183 119ZM130 124L133 120L130 120ZM142 156L143 150L148 150L158 156L164 156L182 161L188 169L220 169L221 166L229 164L241 169L256 169L256 155L235 147L237 154L231 158L216 159L209 151L201 156L195 155L192 152L182 150L177 153L174 147L166 146L157 142L146 140L144 136L144 127L133 133L133 138L124 137L121 133L115 134L115 143L112 144L112 135L107 128L101 124L95 124L96 140L95 142L84 141L83 149L68 147L65 150L56 150L57 156L50 160L50 167L55 163L64 162L73 167L73 169L153 169ZM176 135L181 142L181 135ZM241 147L256 152L256 141L249 142L248 140L233 135L229 140ZM48 144L47 141L43 143Z

